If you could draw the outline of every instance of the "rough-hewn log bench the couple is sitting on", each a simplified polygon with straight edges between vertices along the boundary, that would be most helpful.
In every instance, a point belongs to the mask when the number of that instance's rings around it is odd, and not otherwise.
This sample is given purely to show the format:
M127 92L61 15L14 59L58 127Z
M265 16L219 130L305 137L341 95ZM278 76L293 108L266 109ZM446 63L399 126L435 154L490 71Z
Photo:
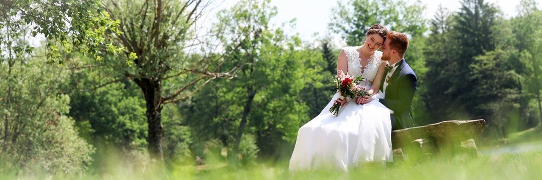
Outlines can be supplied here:
M485 127L483 119L469 121L443 121L391 132L394 159L407 157L455 155L465 153L477 157L476 138Z

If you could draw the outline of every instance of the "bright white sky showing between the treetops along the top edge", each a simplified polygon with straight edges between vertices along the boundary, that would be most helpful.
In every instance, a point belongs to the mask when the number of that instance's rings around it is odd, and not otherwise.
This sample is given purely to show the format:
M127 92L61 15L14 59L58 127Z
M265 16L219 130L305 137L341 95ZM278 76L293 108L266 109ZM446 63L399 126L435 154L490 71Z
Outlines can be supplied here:
M271 4L278 8L278 15L272 19L272 23L279 26L282 22L296 18L295 29L285 28L286 32L288 34L299 33L302 39L311 41L315 32L318 32L319 36L324 36L328 32L327 24L330 22L331 9L337 6L337 1L348 2L349 0L272 0ZM406 1L410 4L414 2L413 0ZM538 8L540 8L542 0L536 1ZM219 0L215 3L216 9L214 11L230 7L236 2L238 0ZM486 2L498 5L506 17L513 17L517 14L516 7L519 5L519 0L486 0ZM461 7L460 0L422 0L422 3L426 8L424 15L428 19L433 18L439 4L442 4L449 11L459 11Z

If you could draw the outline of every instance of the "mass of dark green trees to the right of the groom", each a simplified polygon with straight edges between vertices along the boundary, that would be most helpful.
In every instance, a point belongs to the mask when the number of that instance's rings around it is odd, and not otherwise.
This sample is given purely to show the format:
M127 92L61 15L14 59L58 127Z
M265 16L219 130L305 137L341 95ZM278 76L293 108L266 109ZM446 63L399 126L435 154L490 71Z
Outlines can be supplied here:
M424 51L431 78L422 94L430 121L484 118L485 136L498 138L538 124L536 3L522 1L512 19L484 1L462 4L456 13L439 8L431 20Z

